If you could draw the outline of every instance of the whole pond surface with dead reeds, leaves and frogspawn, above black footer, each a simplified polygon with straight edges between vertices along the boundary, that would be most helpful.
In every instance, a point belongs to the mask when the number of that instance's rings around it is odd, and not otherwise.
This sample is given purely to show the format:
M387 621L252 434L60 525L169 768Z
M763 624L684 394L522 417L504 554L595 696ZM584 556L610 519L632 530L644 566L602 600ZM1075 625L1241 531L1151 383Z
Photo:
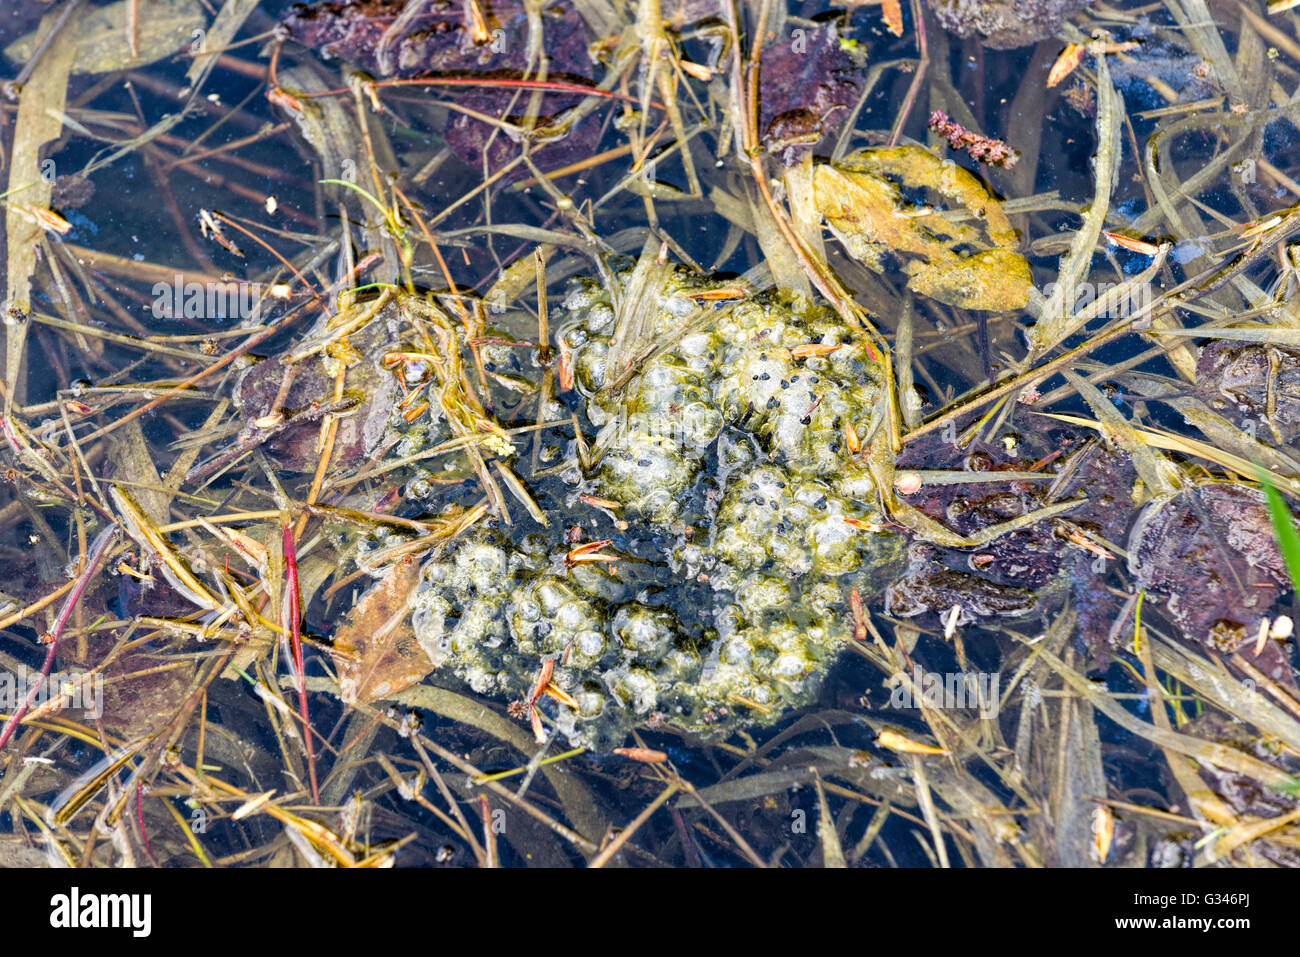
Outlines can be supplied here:
M1292 863L1295 38L6 5L0 861Z

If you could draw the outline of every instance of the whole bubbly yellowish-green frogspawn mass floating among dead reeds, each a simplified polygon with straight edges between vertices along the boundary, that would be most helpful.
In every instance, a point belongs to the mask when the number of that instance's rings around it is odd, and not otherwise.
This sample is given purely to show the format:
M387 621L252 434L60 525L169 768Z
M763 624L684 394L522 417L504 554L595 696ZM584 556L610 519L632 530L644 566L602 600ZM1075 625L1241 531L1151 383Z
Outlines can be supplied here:
M852 640L849 589L901 566L844 447L846 423L863 442L872 428L864 347L781 294L702 317L716 307L689 294L711 287L668 278L650 332L668 345L618 394L608 294L578 281L566 303L562 341L603 450L582 490L620 503L627 527L594 534L627 560L569 567L563 523L514 542L480 531L426 563L412 597L438 674L481 694L526 698L552 659L568 702L540 706L573 744L615 746L650 719L729 731L810 703Z

